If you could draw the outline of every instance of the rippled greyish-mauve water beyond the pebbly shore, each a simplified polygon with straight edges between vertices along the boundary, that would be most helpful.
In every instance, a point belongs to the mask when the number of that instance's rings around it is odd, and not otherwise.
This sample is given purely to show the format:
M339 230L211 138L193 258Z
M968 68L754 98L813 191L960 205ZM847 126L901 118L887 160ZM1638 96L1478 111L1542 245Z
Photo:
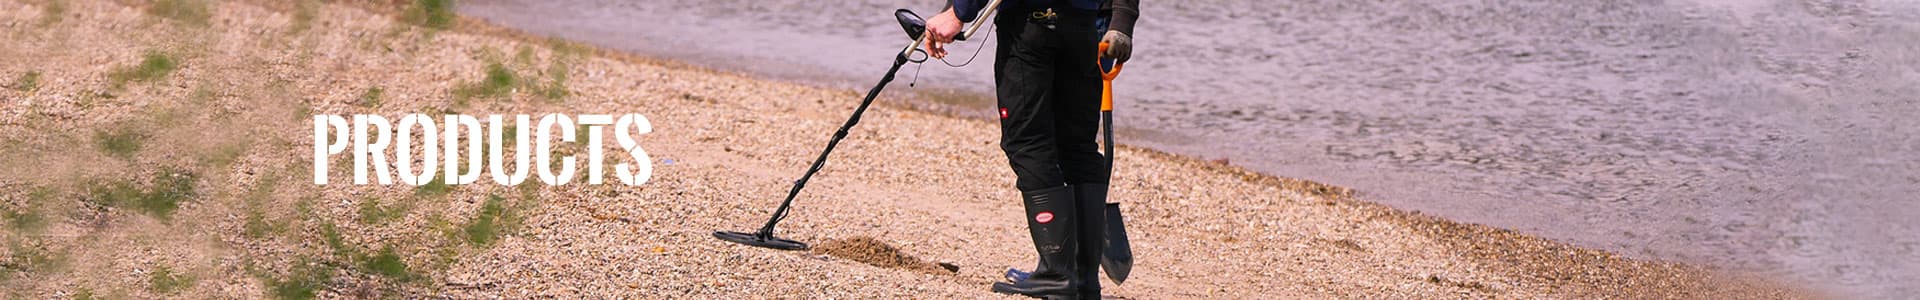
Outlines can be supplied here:
M472 0L538 35L864 88L937 0ZM1131 144L1634 258L1920 294L1920 4L1148 0ZM985 38L983 38L985 40ZM970 54L964 44L958 54ZM920 88L987 92L993 58ZM916 81L902 71L897 88ZM975 104L977 110L991 110ZM1125 171L1121 169L1121 175Z

